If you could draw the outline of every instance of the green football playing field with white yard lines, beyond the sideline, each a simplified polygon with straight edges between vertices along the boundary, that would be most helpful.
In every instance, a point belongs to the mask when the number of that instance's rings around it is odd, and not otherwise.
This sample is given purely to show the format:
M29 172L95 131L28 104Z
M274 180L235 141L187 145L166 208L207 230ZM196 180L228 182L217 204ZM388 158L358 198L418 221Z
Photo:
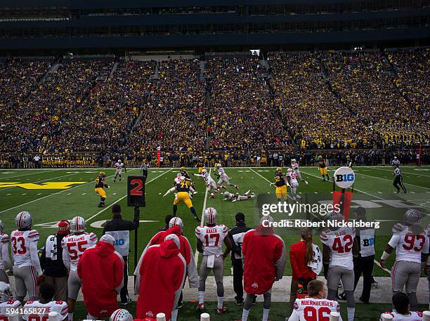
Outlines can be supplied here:
M329 168L329 174L333 173ZM382 199L385 195L391 194L394 190L392 185L392 169L386 167L356 167L355 192L369 196L370 198ZM82 216L86 218L87 228L96 232L100 237L101 228L92 227L91 224L104 221L111 218L110 207L112 204L119 202L122 205L123 217L133 218L133 208L126 207L126 176L138 175L138 169L129 169L126 174L123 172L122 182L112 183L112 176L115 174L114 169L106 169L107 183L110 188L107 189L107 207L100 209L98 205L98 195L95 194L94 180L97 176L97 169L37 169L37 170L8 170L0 171L0 186L6 183L36 183L44 185L47 182L85 182L79 185L72 185L65 190L46 190L35 189L29 190L20 187L3 187L0 188L0 219L4 221L6 232L10 233L15 227L14 218L19 211L27 210L32 213L34 218L34 227L39 230L42 247L46 237L55 232L54 226L62 219L71 219L73 216ZM271 193L274 188L269 186L269 181L273 181L273 168L235 168L226 169L231 178L231 182L240 186L240 192L251 190L256 194ZM403 176L406 188L412 193L408 197L421 195L420 197L427 201L430 199L430 167L423 166L402 166ZM190 173L197 173L196 169L190 169ZM138 254L148 243L148 240L164 225L164 216L171 213L173 193L163 198L162 195L171 187L171 183L176 177L177 169L150 169L148 181L146 184L146 203L147 206L141 209L141 220L148 221L141 223L138 235ZM302 195L315 193L332 192L332 183L323 182L320 178L317 167L302 167L301 173L309 185L300 184L299 192ZM214 170L211 170L214 178ZM206 200L206 207L215 207L219 211L219 223L228 227L235 225L235 214L242 211L248 218L249 225L254 225L252 214L254 213L254 202L225 202L222 195L216 195L215 199L204 195L204 182L202 178L195 178L195 188L199 192L193 197L193 204L197 214L201 216L203 205ZM230 192L235 192L234 188L228 188ZM383 194L382 194L383 193ZM363 196L363 195L362 195ZM426 205L428 206L428 204ZM178 216L183 218L185 223L184 235L188 237L193 248L195 248L194 229L200 225L194 219L190 211L184 204L178 206ZM133 244L133 233L131 235L131 244ZM376 242L377 257L382 254L387 237L379 237ZM317 239L315 237L315 239ZM297 242L299 237L285 237L287 249ZM316 240L315 240L316 241ZM132 249L133 251L133 249ZM133 258L133 253L131 253ZM132 262L133 260L131 260ZM393 256L388 261L387 266L391 268ZM225 274L230 275L230 259L226 260ZM133 271L133 264L130 264L130 273ZM285 269L285 275L291 275L289 263ZM385 270L375 266L374 276L389 276ZM253 309L259 310L259 309ZM358 309L358 313L360 309ZM260 311L261 312L261 311ZM283 314L285 315L285 314ZM183 319L184 320L184 319ZM187 320L192 320L188 319ZM219 319L228 320L228 319ZM278 320L273 319L272 320ZM365 320L365 319L358 319ZM370 320L370 319L369 319Z

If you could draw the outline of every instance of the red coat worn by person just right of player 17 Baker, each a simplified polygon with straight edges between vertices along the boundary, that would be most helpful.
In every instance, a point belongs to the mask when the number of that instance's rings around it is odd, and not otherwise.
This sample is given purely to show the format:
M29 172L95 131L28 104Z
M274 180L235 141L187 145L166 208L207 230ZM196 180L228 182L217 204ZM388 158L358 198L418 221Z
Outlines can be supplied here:
M271 289L275 277L282 278L286 263L284 241L272 228L259 225L245 233L242 243L245 257L244 289L249 294L264 294Z

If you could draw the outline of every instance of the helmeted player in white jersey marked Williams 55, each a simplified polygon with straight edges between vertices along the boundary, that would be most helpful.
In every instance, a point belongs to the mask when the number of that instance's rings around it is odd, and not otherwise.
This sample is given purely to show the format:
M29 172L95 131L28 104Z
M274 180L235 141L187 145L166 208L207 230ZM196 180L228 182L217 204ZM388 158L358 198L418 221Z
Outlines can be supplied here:
M72 218L70 221L70 235L61 240L63 247L63 263L69 272L67 280L67 306L69 311L69 320L73 320L74 303L76 302L79 289L81 289L81 280L77 275L77 264L84 251L97 243L97 235L93 232L85 232L85 220L80 216Z

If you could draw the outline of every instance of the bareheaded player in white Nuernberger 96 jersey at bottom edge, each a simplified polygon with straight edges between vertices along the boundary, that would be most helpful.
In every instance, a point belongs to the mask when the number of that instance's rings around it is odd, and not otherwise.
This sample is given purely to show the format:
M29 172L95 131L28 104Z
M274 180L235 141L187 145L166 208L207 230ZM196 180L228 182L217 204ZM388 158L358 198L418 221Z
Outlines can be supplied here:
M288 321L328 321L330 313L340 313L339 302L325 299L326 296L327 289L323 281L313 280L309 282L308 296L294 301L294 310ZM342 321L340 315L339 321Z

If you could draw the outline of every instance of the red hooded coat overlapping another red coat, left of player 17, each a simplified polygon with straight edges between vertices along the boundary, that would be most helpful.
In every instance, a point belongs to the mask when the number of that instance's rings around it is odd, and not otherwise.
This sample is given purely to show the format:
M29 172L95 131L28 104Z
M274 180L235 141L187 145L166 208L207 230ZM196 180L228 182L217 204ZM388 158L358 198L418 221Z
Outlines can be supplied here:
M164 313L169 320L175 296L180 294L185 279L185 260L176 243L167 240L148 247L143 254L139 275L136 317L145 320Z

